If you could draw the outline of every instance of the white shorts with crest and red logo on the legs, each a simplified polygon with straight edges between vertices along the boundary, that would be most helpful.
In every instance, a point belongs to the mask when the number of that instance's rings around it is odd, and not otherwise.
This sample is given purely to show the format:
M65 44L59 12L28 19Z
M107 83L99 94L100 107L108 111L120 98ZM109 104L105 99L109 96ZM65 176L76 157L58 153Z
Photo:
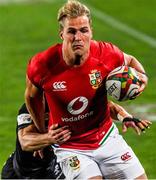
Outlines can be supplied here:
M116 126L96 150L56 148L55 153L68 180L87 180L99 175L105 179L135 179L145 173Z

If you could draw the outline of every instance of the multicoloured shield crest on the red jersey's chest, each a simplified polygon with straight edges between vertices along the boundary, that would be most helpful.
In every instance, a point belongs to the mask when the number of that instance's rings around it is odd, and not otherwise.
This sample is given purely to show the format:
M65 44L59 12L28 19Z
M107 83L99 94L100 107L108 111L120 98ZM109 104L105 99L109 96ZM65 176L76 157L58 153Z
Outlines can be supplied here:
M101 86L102 83L102 76L101 72L98 70L92 70L91 74L89 74L90 78L90 84L93 89L97 89L98 87Z

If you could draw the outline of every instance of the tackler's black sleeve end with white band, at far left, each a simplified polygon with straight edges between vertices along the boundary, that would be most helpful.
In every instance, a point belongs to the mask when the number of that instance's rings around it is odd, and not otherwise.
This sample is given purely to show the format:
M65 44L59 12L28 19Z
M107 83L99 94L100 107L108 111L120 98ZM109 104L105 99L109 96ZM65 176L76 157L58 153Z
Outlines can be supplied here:
M19 109L17 116L17 129L23 129L31 124L33 124L31 116L26 108L26 105L23 104L22 107Z

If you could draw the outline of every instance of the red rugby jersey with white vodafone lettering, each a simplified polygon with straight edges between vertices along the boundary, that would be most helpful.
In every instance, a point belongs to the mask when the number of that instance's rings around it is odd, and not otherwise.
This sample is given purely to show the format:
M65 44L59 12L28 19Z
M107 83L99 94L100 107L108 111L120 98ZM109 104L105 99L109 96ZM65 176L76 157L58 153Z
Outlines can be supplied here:
M112 125L105 78L124 62L123 52L111 43L92 41L90 54L80 67L69 67L62 44L35 55L28 64L31 82L45 92L49 126L69 125L72 137L63 148L96 149Z

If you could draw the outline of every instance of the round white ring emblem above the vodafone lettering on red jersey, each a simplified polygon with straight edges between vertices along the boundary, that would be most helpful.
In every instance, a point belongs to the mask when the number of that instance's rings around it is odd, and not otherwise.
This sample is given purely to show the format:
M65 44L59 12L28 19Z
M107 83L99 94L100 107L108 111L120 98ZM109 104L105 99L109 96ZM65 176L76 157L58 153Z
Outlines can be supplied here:
M82 113L88 106L88 99L86 97L80 96L73 99L67 106L67 110L73 114L78 115Z

